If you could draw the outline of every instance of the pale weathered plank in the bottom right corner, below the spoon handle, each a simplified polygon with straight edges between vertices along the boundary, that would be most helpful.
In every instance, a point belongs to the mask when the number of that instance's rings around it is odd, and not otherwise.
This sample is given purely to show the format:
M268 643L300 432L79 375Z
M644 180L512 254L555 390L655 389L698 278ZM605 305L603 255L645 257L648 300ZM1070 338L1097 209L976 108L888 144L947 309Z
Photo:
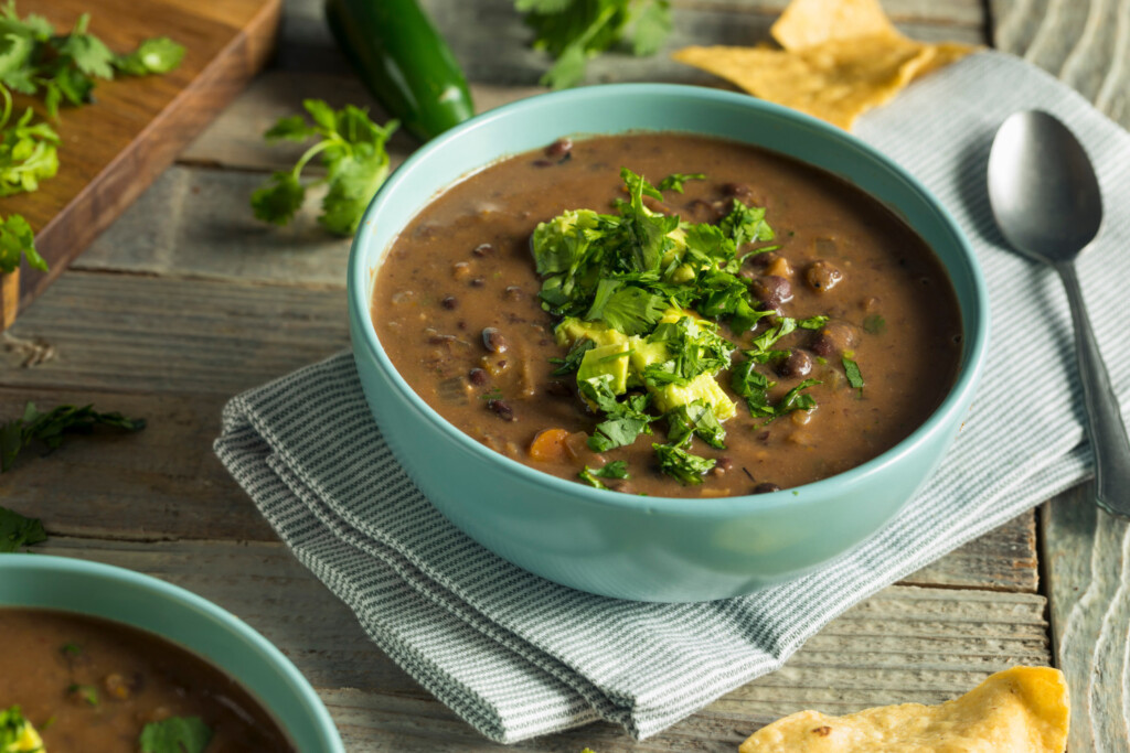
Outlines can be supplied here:
M1068 750L1130 752L1130 523L1090 483L1041 509L1055 664L1071 689Z

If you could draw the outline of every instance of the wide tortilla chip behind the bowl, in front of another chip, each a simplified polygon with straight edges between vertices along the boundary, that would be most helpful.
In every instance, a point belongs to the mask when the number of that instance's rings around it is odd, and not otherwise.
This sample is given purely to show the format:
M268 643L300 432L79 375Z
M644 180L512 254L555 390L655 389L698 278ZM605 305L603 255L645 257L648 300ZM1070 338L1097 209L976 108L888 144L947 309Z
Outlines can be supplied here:
M898 94L932 56L928 45L886 34L825 42L800 52L686 47L673 55L764 99L843 129Z

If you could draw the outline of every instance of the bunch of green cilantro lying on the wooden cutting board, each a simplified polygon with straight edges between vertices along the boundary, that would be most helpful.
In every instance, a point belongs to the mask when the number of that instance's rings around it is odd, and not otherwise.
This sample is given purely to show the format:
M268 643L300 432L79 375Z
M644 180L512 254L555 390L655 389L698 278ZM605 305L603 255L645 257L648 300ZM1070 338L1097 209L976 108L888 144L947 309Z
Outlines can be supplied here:
M29 107L15 122L11 91L41 96L47 115L59 116L59 106L93 102L96 79L112 79L114 71L129 76L167 73L180 65L184 47L167 37L144 41L128 54L114 54L87 29L82 14L68 33L47 19L31 14L23 18L15 0L0 6L0 196L35 191L40 181L59 169L59 134L46 122L35 122ZM0 273L15 272L20 260L37 270L47 263L35 249L35 234L20 214L0 219Z

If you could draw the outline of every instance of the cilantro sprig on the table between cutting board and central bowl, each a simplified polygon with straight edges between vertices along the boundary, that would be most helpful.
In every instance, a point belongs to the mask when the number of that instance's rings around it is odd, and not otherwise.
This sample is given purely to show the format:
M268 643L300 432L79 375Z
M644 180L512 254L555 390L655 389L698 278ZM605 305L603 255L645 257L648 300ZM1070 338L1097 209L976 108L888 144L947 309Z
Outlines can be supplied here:
M370 200L389 175L389 154L384 145L397 130L397 122L383 128L359 107L346 105L333 110L321 99L306 99L303 107L313 123L302 115L280 119L264 134L268 141L318 142L307 149L290 170L271 175L268 182L251 194L255 217L275 225L286 225L306 199L306 189L324 183L329 190L322 199L322 213L318 221L337 235L357 231L362 214ZM303 185L303 168L321 155L325 177Z

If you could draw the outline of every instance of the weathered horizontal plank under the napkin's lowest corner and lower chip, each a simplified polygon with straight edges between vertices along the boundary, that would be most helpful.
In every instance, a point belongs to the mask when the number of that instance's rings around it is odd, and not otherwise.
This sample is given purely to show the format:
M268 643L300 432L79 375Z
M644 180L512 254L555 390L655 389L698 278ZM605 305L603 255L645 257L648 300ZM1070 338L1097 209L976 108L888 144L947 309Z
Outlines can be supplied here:
M729 753L758 726L799 709L939 702L997 669L1050 658L1042 596L896 586L832 622L782 671L655 738L634 743L593 725L507 748L486 743L421 691L281 544L54 539L41 551L156 575L243 618L314 683L350 751Z

